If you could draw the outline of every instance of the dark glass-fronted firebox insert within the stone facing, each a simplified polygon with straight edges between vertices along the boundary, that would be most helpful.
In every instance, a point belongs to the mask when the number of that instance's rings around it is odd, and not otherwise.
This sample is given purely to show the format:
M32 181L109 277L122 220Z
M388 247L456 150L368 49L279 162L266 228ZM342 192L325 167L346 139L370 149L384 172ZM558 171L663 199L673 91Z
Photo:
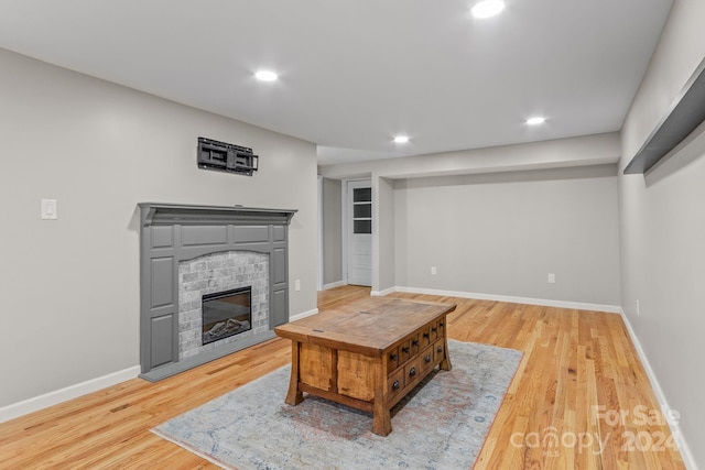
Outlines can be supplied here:
M203 296L203 343L252 329L252 288L241 287Z

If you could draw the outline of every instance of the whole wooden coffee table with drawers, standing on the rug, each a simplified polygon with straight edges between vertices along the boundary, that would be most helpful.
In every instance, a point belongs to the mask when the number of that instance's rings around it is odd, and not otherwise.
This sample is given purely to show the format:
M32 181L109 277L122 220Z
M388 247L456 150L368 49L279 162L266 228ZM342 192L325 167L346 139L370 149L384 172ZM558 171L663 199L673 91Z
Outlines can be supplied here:
M292 340L286 403L306 392L372 413L372 433L387 436L390 408L436 365L451 370L446 315L455 307L369 297L274 328Z

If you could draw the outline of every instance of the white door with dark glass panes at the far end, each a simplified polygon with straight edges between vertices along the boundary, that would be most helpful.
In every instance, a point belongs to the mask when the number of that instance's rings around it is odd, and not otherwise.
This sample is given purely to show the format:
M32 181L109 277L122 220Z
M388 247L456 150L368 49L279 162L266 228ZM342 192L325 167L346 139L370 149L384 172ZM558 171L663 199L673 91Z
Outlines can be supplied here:
M348 284L372 285L372 188L348 182Z

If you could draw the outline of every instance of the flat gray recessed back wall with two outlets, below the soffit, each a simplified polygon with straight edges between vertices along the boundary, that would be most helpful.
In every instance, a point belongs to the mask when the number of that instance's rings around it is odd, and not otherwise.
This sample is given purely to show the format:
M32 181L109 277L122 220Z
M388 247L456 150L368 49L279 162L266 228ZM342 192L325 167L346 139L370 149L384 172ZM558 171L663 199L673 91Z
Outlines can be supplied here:
M394 201L399 286L619 305L615 165L406 179Z

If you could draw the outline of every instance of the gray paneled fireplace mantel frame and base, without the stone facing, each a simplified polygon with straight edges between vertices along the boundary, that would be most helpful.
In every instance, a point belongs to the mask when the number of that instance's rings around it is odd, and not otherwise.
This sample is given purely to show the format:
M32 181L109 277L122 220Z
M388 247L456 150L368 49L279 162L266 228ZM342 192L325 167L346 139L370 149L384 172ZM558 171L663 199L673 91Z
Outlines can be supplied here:
M289 223L296 210L140 203L141 378L158 381L274 338L289 321ZM269 255L269 330L180 360L178 264L219 252Z

